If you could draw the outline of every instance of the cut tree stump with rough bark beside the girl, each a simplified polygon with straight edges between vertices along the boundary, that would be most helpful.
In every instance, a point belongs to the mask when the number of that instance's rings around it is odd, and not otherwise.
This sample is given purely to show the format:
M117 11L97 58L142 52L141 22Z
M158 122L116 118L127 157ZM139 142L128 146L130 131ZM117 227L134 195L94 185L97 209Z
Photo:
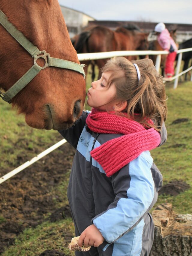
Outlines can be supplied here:
M150 256L192 256L192 215L176 215L164 203L152 212L155 236Z

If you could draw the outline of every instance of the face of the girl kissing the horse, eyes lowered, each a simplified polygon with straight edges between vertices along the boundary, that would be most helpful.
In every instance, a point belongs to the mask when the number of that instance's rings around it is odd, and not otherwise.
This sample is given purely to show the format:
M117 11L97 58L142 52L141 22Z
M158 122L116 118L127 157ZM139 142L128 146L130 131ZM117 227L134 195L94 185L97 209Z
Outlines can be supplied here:
M108 86L108 80L112 71L104 72L101 79L91 83L91 88L87 93L87 104L90 107L97 108L101 111L112 111L113 103L116 96L116 87L112 83Z

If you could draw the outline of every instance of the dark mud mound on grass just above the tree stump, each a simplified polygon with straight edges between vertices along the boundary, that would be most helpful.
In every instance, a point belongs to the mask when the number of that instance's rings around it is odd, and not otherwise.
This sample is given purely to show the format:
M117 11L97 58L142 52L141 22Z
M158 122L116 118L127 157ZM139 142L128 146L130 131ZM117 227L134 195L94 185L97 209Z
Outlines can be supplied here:
M185 190L190 188L190 185L184 182L183 180L174 179L169 183L162 186L159 191L159 194L166 194L171 196L176 196Z

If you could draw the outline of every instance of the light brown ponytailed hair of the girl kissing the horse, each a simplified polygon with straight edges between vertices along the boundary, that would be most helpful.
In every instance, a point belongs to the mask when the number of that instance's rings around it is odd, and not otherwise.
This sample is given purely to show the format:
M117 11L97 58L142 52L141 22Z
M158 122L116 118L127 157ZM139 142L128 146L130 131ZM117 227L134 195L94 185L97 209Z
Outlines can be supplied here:
M139 67L140 81L133 63ZM115 57L102 68L102 72L108 71L112 71L108 84L116 86L116 99L128 103L124 116L127 112L128 118L159 131L167 117L167 97L162 76L156 71L152 60L129 61L124 57ZM150 124L149 119L154 124Z

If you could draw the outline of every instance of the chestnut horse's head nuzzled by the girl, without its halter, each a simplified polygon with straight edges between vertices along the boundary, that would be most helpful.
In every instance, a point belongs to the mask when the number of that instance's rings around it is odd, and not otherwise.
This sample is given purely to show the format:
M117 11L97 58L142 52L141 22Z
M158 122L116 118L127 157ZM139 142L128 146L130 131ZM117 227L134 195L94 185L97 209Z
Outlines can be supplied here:
M79 63L56 0L1 0L1 11L40 51ZM33 58L0 24L0 87L6 92L33 65ZM44 66L44 59L37 60ZM26 123L64 129L79 118L85 101L82 74L64 68L41 70L11 101Z

